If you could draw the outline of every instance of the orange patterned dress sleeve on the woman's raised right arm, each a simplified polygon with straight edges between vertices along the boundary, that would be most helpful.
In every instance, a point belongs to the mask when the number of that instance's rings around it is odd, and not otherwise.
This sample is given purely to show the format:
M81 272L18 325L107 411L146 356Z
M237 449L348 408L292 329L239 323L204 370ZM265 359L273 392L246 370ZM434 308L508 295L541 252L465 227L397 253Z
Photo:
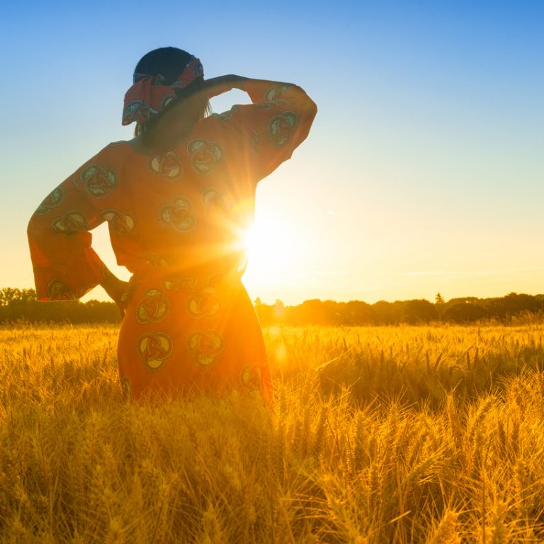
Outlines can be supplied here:
M317 106L299 86L249 79L252 104L234 106L227 114L251 157L257 180L291 157L310 132Z

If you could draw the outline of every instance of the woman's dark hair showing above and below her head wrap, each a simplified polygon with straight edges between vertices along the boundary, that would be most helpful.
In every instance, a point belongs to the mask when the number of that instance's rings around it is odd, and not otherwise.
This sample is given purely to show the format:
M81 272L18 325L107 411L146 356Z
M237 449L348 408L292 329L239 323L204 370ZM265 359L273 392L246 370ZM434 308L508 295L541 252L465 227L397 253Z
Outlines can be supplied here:
M142 77L145 76L158 76L159 74L164 78L164 85L169 85L176 81L183 68L191 61L193 55L178 49L177 47L159 47L146 53L134 69L133 83L136 83ZM197 77L191 84L185 87L185 89L175 89L176 98L172 100L164 110L152 115L145 123L136 123L135 136L149 135L149 132L153 129L159 118L163 113L174 106L176 103L180 103L186 100L189 96L192 96L196 92L202 90L204 87L203 77ZM210 103L208 100L203 101L202 116L210 113Z

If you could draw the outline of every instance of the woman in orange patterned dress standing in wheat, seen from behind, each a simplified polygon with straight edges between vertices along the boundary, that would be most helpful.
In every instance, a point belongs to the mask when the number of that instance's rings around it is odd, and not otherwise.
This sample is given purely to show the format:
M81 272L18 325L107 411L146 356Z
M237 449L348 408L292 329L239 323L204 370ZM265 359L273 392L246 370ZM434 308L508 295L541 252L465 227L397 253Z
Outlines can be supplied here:
M208 100L241 89L253 104L208 115ZM72 300L100 284L122 310L125 392L260 390L271 378L259 321L241 277L242 233L256 183L307 137L317 112L295 85L203 79L200 61L164 47L137 64L123 125L40 204L28 225L38 299ZM125 283L91 248L107 221Z

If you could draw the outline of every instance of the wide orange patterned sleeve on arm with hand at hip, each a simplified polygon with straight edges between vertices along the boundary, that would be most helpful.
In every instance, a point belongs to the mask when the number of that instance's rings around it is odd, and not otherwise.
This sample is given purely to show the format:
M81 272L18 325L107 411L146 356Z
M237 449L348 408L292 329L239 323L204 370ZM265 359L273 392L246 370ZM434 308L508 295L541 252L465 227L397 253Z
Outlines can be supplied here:
M28 243L38 300L74 300L103 280L107 268L91 247L89 230L105 219L117 187L100 154L64 180L38 206L28 223Z

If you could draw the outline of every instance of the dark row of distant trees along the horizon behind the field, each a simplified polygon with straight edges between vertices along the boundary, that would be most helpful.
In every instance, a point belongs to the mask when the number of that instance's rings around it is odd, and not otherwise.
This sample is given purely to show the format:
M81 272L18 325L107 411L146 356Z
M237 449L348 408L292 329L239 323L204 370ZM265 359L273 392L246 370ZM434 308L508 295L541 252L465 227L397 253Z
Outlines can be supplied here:
M482 319L504 321L519 314L544 314L544 295L509 293L504 297L463 297L443 299L437 293L429 300L380 300L368 304L360 300L305 300L286 306L281 300L268 305L257 298L255 310L261 324L418 324L436 321L472 323ZM113 302L38 302L33 289L0 290L0 323L17 322L118 323L119 311Z

